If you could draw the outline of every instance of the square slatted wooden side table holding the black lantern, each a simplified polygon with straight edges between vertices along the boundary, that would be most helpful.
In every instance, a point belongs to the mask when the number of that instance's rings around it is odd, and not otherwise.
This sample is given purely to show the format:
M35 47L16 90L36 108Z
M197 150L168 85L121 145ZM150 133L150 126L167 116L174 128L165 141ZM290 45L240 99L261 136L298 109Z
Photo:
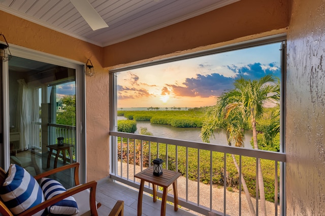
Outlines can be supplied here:
M174 190L174 210L178 210L178 194L177 194L177 178L182 174L179 172L175 172L168 169L163 169L163 174L160 176L153 175L153 166L137 173L135 177L141 179L140 189L139 189L139 197L138 197L138 216L142 214L142 196L143 196L143 188L144 182L149 182L152 184L152 194L153 194L153 202L157 200L157 186L163 187L163 199L161 200L161 210L160 215L166 215L166 201L167 201L167 193L168 187L173 184Z

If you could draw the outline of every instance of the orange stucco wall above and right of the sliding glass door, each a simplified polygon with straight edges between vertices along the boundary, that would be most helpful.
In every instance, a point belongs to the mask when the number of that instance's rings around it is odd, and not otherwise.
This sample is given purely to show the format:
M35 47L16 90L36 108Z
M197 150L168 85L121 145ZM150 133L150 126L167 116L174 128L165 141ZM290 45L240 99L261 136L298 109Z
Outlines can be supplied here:
M86 62L91 56L93 77L86 77L87 181L109 174L108 73L103 48L0 11L0 32L9 44Z

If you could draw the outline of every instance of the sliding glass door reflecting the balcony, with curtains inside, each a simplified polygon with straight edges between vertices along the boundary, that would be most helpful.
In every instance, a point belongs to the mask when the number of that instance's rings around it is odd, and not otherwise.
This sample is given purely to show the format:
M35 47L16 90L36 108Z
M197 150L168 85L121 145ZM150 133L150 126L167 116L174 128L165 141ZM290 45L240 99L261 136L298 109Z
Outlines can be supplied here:
M12 53L4 76L5 168L15 163L36 175L80 162L84 170L83 66L23 50ZM67 176L57 177L71 183Z

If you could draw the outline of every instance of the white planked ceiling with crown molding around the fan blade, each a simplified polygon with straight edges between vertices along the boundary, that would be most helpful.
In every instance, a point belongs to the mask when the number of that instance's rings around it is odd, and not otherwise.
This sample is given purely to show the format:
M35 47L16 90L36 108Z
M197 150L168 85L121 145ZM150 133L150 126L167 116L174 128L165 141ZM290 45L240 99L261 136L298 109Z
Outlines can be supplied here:
M238 1L88 0L109 25L95 31L69 0L0 0L0 10L104 47Z

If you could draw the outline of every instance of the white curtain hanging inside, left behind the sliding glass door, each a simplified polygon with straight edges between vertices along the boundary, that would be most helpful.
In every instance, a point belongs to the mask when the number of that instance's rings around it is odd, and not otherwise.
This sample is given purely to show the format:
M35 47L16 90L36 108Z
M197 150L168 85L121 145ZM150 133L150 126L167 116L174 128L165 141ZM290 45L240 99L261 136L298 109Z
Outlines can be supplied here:
M23 151L28 149L30 134L29 94L25 80L19 79L17 82L19 85L17 99L17 129L20 132L20 150Z

